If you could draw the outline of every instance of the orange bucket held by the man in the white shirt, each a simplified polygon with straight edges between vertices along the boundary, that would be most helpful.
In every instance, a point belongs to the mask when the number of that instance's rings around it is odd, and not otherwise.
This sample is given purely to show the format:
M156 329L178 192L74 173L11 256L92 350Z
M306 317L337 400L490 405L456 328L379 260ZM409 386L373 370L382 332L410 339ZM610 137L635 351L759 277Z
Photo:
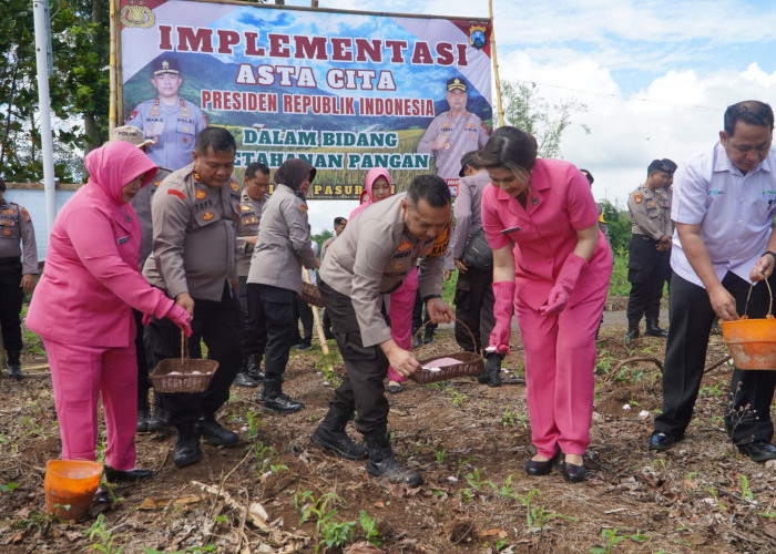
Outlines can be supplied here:
M737 319L722 322L722 336L738 369L776 370L776 319Z

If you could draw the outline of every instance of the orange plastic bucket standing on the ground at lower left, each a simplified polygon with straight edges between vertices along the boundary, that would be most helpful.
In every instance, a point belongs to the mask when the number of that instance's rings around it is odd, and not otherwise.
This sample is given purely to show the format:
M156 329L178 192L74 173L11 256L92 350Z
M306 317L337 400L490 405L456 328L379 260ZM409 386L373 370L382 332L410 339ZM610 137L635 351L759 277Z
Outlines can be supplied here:
M100 486L102 464L86 460L51 460L45 464L45 511L59 520L80 520Z

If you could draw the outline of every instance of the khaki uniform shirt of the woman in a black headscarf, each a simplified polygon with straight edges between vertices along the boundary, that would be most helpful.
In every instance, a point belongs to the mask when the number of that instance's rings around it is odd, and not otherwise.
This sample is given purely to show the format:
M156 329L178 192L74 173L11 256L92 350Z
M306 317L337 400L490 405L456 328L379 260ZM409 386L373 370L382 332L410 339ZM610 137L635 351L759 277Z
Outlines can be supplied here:
M248 283L302 293L302 266L314 269L315 252L307 232L307 203L294 189L277 185L262 211Z

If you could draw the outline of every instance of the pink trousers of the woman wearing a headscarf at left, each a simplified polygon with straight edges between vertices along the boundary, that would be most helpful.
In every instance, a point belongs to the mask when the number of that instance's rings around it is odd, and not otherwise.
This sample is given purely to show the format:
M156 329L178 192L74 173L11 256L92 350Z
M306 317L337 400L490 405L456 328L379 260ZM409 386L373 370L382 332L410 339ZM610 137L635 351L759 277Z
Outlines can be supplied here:
M122 348L64 345L43 339L51 365L63 460L94 460L102 392L108 448L114 470L135 466L137 360L134 342Z

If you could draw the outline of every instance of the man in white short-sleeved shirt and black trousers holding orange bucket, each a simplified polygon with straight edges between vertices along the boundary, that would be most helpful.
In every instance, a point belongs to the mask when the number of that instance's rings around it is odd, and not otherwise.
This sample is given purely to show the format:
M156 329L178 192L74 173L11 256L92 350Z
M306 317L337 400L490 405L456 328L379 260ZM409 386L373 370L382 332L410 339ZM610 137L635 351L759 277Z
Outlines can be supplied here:
M776 151L774 113L757 101L725 111L725 130L708 152L676 173L671 217L676 224L671 266L671 326L663 371L663 412L651 450L684 437L697 398L712 322L768 311L768 279L776 265ZM776 371L734 369L725 428L738 451L755 462L776 459L770 402Z

